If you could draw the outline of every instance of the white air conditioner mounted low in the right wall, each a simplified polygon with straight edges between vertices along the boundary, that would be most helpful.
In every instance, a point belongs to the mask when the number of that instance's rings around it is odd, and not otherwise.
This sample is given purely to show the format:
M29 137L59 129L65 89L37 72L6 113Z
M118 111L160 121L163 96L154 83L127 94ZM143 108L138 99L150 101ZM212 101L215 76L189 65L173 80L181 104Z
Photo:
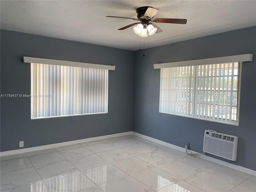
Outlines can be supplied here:
M238 136L204 131L203 151L231 161L236 161Z

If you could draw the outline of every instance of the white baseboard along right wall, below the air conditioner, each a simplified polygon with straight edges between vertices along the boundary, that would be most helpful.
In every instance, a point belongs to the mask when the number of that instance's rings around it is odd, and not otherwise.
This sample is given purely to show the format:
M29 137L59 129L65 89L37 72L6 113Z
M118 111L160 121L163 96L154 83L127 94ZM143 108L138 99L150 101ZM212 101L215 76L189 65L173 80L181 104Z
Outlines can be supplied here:
M140 133L132 132L132 134L135 135L135 136L138 136L138 137L141 137L141 138L144 138L144 139L148 139L150 141L162 144L164 146L168 146L170 148L173 148L173 149L176 149L176 150L179 150L179 151L182 151L182 152L186 152L185 148L182 148L182 147L179 147L179 146L176 146L176 145L173 145L173 144L170 144L170 143L167 143L167 142L164 142L164 141L161 141L161 140L158 140L158 139L146 136L146 135L142 135ZM191 151L191 152L192 153L198 153L198 152L195 152L195 151ZM207 156L207 155L200 155L198 157L202 158L202 159L205 159L205 160L208 160L210 162L214 162L216 164L220 164L222 166L226 166L228 168L232 168L234 170L238 170L238 171L241 171L241 172L244 172L244 173L256 176L256 171L248 169L248 168L245 168L245 167L242 167L242 166L238 166L238 165L226 162L226 161L222 161L222 160L219 160L219 159Z

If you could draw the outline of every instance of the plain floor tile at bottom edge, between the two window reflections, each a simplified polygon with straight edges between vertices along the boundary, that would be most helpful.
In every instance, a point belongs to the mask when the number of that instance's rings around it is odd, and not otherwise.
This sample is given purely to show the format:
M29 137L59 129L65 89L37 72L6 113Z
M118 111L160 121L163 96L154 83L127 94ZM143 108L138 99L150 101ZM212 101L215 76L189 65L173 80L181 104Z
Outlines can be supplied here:
M153 192L131 176L122 177L99 185L104 192Z

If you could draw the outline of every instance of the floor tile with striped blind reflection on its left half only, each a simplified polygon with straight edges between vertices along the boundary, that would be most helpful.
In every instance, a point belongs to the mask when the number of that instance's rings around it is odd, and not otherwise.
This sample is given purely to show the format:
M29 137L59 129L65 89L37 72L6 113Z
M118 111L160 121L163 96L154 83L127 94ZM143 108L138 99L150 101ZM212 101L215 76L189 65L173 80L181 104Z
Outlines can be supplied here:
M125 172L116 168L112 164L100 165L94 168L83 170L82 172L96 185L127 176Z

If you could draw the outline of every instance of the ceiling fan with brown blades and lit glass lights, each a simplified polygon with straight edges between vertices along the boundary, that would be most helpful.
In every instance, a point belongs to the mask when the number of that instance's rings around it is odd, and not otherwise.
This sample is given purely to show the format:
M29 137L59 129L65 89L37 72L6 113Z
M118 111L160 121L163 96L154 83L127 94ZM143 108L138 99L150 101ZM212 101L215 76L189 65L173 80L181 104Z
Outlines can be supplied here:
M146 37L148 35L153 35L154 33L162 32L156 24L154 23L176 23L176 24L186 24L186 19L170 19L170 18L157 18L154 19L154 15L158 12L158 9L145 6L139 7L136 9L137 18L130 18L130 17L116 17L116 16L107 16L111 18L121 18L121 19L132 19L140 22L136 22L125 27L122 27L118 30L124 30L129 27L134 26L133 30L136 34L142 37Z

